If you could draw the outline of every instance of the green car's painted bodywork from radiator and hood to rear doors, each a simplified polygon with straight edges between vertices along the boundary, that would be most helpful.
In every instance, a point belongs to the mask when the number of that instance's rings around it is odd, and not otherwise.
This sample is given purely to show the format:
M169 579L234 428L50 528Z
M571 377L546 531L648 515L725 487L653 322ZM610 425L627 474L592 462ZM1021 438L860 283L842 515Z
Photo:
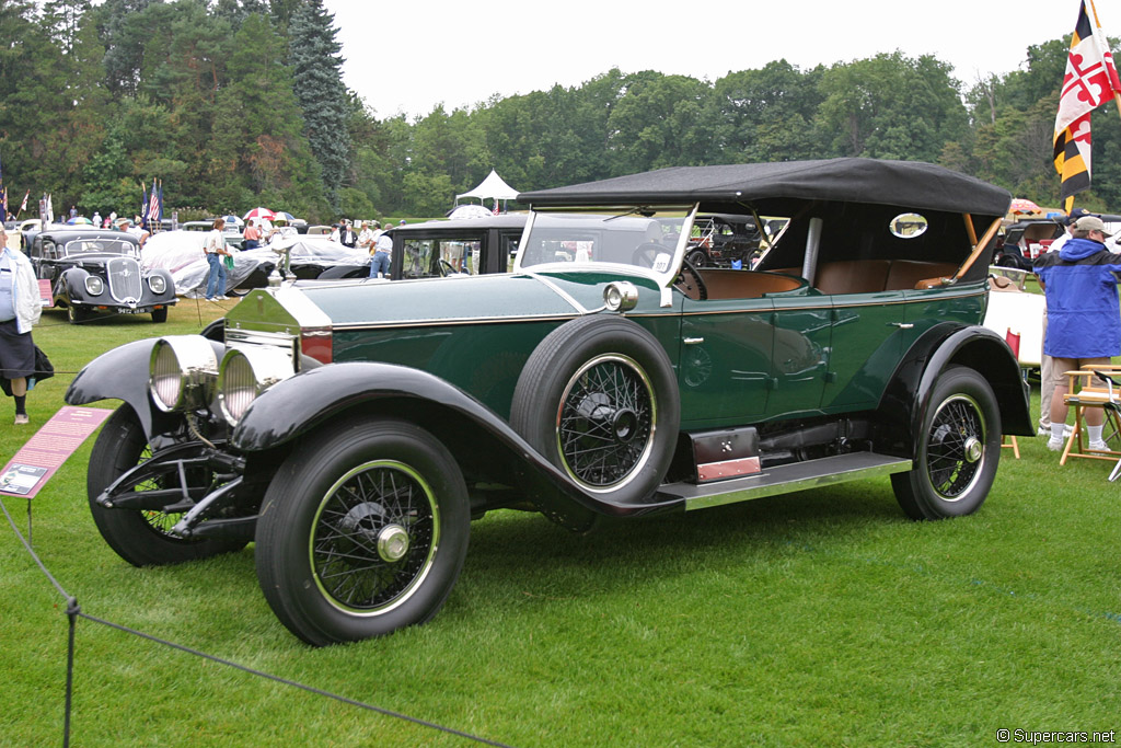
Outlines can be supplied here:
M676 369L682 427L719 428L877 407L902 353L933 325L978 324L983 284L827 296L694 301L642 276L604 271L487 275L256 292L231 326L298 334L307 310L330 321L333 360L432 372L502 417L526 360L560 324L601 310L606 284L638 288L627 317ZM287 295L285 295L287 294ZM667 306L663 303L668 302Z

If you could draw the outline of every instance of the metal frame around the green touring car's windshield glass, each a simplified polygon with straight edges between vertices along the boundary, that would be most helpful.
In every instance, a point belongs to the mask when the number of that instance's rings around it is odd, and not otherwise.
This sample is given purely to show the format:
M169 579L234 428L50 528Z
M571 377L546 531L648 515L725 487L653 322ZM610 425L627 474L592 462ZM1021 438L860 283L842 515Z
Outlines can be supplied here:
M530 207L529 218L526 220L526 227L522 229L521 239L518 243L518 255L515 258L512 273L574 273L574 271L593 271L593 273L614 273L623 275L641 275L649 277L657 281L659 287L669 288L673 286L674 280L680 274L682 260L685 257L685 247L689 242L689 237L693 231L693 222L696 220L697 212L701 207L700 203L693 203L691 205L677 204L627 204L627 205L581 205L576 207L543 207L532 209ZM540 262L529 266L522 265L526 252L530 247L530 239L532 237L534 227L537 223L537 219L540 215L544 216L571 216L571 215L589 215L597 216L603 219L604 222L614 221L622 218L650 218L657 220L658 218L665 218L670 215L682 218L682 227L677 237L677 244L673 248L669 261L666 265L665 270L657 270L652 267L643 267L641 265L631 265L627 262L605 262L602 260L589 260L583 262L569 262L569 261L554 261L554 262Z

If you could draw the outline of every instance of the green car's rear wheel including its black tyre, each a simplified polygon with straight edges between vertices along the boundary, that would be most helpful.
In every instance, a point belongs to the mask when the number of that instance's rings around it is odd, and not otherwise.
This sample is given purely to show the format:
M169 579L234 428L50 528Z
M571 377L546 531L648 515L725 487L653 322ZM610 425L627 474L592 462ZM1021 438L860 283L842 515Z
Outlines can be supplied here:
M904 511L914 519L976 511L1000 461L1000 410L989 382L964 367L943 372L917 440L914 469L891 477Z

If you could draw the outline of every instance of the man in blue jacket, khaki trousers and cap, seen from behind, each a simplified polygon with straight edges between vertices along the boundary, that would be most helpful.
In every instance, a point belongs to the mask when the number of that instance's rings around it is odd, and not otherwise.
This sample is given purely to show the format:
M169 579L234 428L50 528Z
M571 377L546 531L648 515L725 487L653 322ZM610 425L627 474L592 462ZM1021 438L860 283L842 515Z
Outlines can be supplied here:
M1036 260L1039 285L1047 294L1047 335L1044 352L1051 366L1051 435L1047 449L1063 449L1063 427L1068 406L1064 372L1087 366L1108 366L1121 354L1121 306L1118 278L1121 255L1105 249L1105 224L1096 215L1083 215L1058 252ZM1046 384L1046 382L1045 382ZM1104 410L1086 410L1086 431L1092 451L1106 451L1102 440Z

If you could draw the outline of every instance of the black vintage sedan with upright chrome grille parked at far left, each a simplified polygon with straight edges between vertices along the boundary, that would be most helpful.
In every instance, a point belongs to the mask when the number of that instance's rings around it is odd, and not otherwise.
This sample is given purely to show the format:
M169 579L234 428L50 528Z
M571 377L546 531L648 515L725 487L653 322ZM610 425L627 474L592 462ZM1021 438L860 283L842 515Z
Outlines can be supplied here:
M31 265L50 280L52 305L66 310L72 323L96 313L151 314L167 322L175 284L167 270L145 270L140 242L111 229L50 229L35 236Z

